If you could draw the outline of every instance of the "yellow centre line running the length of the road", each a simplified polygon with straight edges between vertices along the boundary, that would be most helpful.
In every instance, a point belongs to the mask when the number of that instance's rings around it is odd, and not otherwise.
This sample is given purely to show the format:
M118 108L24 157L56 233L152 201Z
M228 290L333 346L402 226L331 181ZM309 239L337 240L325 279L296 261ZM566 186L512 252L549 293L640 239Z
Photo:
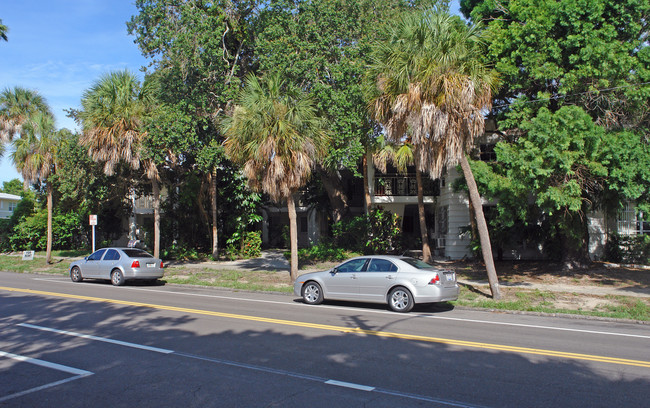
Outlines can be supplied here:
M395 338L395 339L401 339L401 340L412 340L412 341L422 341L422 342L429 342L429 343L447 344L447 345L451 345L451 346L461 346L461 347L470 347L470 348L478 348L478 349L486 349L486 350L497 350L497 351L508 351L508 352L521 353L521 354L534 354L534 355L540 355L540 356L560 357L560 358L566 358L566 359L570 359L570 360L597 361L597 362L601 362L601 363L610 363L610 364L619 364L619 365L629 365L629 366L650 368L650 361L642 361L642 360L629 360L629 359L623 359L623 358L605 357L605 356L597 356L597 355L590 355L590 354L577 354L577 353L567 353L567 352L563 352L563 351L544 350L544 349L535 349L535 348L517 347L517 346L507 346L507 345L502 345L502 344L479 343L479 342L474 342L474 341L453 340L453 339L445 339L445 338L429 337L429 336L418 336L418 335L404 334L404 333L392 333L392 332L377 331L377 330L364 330L364 329L361 329L361 328L352 329L352 328L343 327L343 326L333 326L333 325L327 325L327 324L297 322L297 321L292 321L292 320L271 319L271 318L268 318L268 317L247 316L247 315L240 315L240 314L233 314L233 313L213 312L213 311L210 311L210 310L189 309L189 308L184 308L184 307L156 305L156 304L151 304L151 303L131 302L131 301L127 301L127 300L106 299L106 298L98 298L98 297L92 297L92 296L70 295L70 294L66 294L66 293L46 292L46 291L32 290L32 289L19 289L19 288L10 288L10 287L0 286L0 290L5 290L5 291L8 291L8 292L20 292L20 293L30 293L30 294L35 294L35 295L61 297L61 298L68 298L68 299L88 300L88 301L92 301L92 302L113 303L113 304L124 305L124 306L147 307L147 308L157 309L157 310L167 310L167 311L184 312L184 313L190 313L190 314L200 314L200 315L205 315L205 316L223 317L223 318L227 318L227 319L238 319L238 320L248 320L248 321L255 321L255 322L264 322L264 323L278 324L278 325L283 325L283 326L305 327L305 328L310 328L310 329L336 331L336 332L342 332L342 333L364 334L364 335L367 335L367 336L377 336L377 337L387 337L387 338Z

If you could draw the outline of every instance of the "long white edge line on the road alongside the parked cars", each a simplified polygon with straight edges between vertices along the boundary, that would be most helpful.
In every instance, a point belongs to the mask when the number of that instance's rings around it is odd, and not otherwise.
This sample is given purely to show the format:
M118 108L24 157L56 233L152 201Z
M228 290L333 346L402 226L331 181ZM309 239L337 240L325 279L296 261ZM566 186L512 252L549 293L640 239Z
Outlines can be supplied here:
M73 284L70 281L62 282L60 279L43 279L43 278L34 278L34 280L47 280L50 282L57 282L57 283L69 283ZM193 296L193 297L207 297L207 298L213 298L213 299L224 299L224 300L237 300L241 302L254 302L254 303L267 303L267 304L277 304L277 305L289 305L289 306L307 306L302 303L295 303L295 302L277 302L273 300L260 300L260 299L245 299L245 298L240 298L240 297L233 297L233 296L221 296L221 295L206 295L202 293L185 293L185 292L177 292L173 290L158 290L158 289L144 289L144 288L125 288L121 287L121 290L127 289L127 290L137 290L137 291L146 291L146 292L155 292L155 293L164 293L164 294L175 294L175 295L184 295L184 296ZM327 309L335 309L335 310L351 310L348 307L342 307L342 306L331 306L331 305L319 305L319 308L327 308ZM364 310L364 313L374 313L374 314L386 314L386 315L394 315L394 312L388 312L388 311L382 311L382 310L372 310L372 309L367 309ZM430 314L423 314L423 313L412 313L414 316L419 316L419 317L424 317L427 319L440 319L440 320L450 320L450 321L458 321L458 322L466 322L466 323L478 323L478 324L493 324L493 325L500 325L500 326L512 326L512 327L524 327L524 328L531 328L531 329L542 329L542 330L557 330L557 331L566 331L566 332L575 332L575 333L586 333L586 334L598 334L598 335L604 335L604 336L618 336L618 337L634 337L634 338L640 338L640 339L650 339L650 336L648 335L641 335L641 334L628 334L628 333L615 333L615 332L605 332L605 331L598 331L598 330L584 330L584 329L571 329L571 328L565 328L565 327L554 327L554 326L542 326L542 325L534 325L534 324L524 324L524 323L508 323L508 322L497 322L497 321L491 321L491 320L477 320L477 319L466 319L466 318L459 318L459 317L446 317L446 316L432 316Z

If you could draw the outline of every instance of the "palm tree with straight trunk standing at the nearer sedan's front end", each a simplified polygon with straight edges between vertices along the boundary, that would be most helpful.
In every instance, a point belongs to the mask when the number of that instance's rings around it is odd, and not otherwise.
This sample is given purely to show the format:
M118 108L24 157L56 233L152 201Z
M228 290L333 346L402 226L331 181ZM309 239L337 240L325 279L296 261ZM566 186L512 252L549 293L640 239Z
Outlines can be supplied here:
M314 101L280 74L249 75L232 117L222 123L226 154L243 165L249 185L275 202L287 201L291 281L298 277L294 194L324 156L328 137Z

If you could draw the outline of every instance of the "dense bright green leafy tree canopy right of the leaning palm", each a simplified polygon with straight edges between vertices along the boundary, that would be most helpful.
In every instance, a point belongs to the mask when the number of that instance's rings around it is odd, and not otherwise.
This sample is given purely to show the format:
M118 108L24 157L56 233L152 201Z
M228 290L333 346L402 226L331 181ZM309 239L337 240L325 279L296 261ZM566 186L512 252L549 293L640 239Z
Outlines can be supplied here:
M639 169L648 161L650 4L490 0L461 6L487 25L485 59L503 79L491 112L501 135L497 161L474 164L484 191L499 198L494 224L548 220L553 231L543 234L568 245L555 254L586 260L588 214L648 202L648 179L621 169L625 160Z

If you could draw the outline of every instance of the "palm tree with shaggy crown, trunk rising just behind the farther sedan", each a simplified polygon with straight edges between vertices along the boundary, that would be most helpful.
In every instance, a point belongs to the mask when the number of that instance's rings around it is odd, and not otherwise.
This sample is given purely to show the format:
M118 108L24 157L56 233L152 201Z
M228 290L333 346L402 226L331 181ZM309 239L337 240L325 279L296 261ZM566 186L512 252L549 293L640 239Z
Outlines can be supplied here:
M83 125L80 142L93 160L104 163L104 173L113 175L119 163L132 170L144 167L151 181L154 206L154 256L160 255L160 176L152 159L144 159L143 141L148 133L145 120L155 106L153 88L142 85L129 71L101 77L84 92L79 118Z

